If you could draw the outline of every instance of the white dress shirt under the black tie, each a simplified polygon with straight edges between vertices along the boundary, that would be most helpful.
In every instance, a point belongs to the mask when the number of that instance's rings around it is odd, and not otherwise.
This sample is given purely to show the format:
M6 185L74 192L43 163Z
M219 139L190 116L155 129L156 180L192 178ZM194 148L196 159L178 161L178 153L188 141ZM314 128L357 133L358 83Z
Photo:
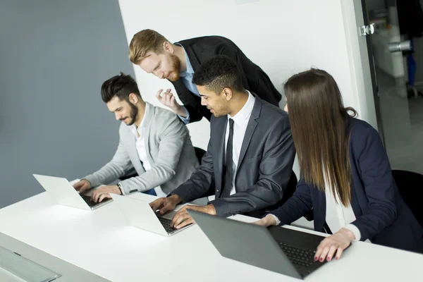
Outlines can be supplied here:
M247 130L248 121L250 121L250 116L252 108L254 108L255 97L252 96L250 91L248 92L248 99L243 109L238 111L238 114L235 116L228 115L228 123L226 125L226 136L225 136L225 151L223 156L226 156L226 146L228 145L229 139L229 119L233 119L233 142L232 142L232 188L230 195L235 194L235 175L236 169L238 168L238 160L240 159L241 147L243 146L245 130Z

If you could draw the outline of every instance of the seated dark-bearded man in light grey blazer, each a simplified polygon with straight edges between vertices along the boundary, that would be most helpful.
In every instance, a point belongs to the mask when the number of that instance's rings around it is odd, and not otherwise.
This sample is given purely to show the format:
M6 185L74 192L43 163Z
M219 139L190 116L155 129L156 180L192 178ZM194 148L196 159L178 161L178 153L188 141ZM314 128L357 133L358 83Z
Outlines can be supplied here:
M109 193L133 192L166 197L195 171L198 160L188 128L171 111L144 102L130 75L121 73L106 80L102 99L116 120L122 121L118 149L108 164L75 183L76 190L84 193L135 170L138 176L94 190L92 200L102 202L111 197Z

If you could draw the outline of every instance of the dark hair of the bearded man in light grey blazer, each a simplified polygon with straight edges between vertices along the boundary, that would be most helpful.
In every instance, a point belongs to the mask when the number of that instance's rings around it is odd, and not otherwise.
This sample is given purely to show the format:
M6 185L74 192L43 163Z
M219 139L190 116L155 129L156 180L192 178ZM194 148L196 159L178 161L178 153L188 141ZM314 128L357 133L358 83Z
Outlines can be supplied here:
M137 82L130 75L125 75L125 73L115 75L113 78L103 82L102 99L104 103L109 103L115 96L120 100L129 101L129 94L131 93L141 97Z

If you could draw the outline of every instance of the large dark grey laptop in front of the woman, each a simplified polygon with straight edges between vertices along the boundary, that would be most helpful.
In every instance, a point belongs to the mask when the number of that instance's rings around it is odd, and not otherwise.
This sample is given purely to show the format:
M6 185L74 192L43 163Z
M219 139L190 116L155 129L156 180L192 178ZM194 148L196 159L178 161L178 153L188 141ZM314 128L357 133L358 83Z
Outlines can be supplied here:
M314 262L323 236L225 219L188 210L223 257L303 279L325 262Z

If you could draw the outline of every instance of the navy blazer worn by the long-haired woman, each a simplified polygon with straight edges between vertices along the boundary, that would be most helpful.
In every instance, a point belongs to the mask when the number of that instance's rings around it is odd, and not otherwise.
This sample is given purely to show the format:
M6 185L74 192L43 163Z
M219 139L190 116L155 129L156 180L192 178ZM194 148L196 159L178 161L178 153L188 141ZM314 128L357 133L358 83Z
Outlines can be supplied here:
M423 252L423 227L398 192L379 133L356 118L348 118L347 130L351 133L351 206L356 217L352 223L360 230L360 240ZM270 213L286 224L312 208L314 230L323 231L326 195L300 179L293 197Z

